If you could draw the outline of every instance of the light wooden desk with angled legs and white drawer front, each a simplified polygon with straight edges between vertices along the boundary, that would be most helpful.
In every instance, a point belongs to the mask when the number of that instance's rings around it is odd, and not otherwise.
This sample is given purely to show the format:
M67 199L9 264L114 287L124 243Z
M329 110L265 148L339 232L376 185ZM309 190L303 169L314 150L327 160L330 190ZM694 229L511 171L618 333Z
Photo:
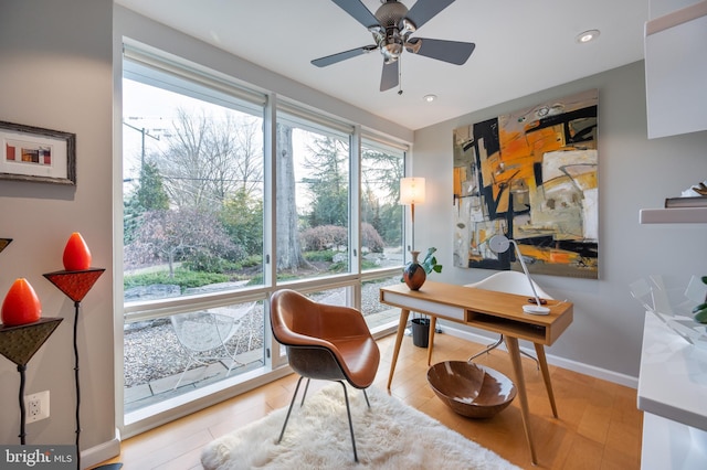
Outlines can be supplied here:
M555 405L555 395L552 393L552 383L550 382L550 373L545 357L545 345L552 344L572 322L572 303L550 300L547 305L547 307L550 308L549 314L534 316L523 311L523 306L528 302L527 296L516 296L514 293L475 289L430 280L428 280L420 290L410 290L408 286L402 282L395 286L383 287L380 289L380 302L401 309L393 359L390 364L390 375L388 376L388 389L390 389L390 384L393 381L395 363L398 362L398 354L400 353L400 344L405 333L408 317L411 310L432 317L429 359L432 355L434 323L437 318L504 334L516 376L516 386L518 387L518 398L520 400L520 415L530 449L530 459L534 464L537 464L530 432L528 398L526 395L525 378L523 376L518 340L528 340L535 344L545 387L548 392L550 406L552 407L552 415L557 418L558 414Z

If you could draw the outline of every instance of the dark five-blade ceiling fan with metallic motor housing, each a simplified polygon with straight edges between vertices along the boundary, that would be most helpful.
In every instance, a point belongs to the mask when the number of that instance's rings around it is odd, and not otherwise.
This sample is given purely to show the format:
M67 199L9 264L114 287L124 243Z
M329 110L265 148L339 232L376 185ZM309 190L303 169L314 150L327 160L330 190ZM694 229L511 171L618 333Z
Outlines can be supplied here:
M451 64L463 65L474 52L474 43L444 41L428 38L410 38L424 23L444 10L454 0L418 0L410 10L398 0L381 0L376 14L360 0L331 0L373 34L376 44L365 45L338 54L312 61L317 67L326 67L347 58L379 50L383 55L383 73L380 90L393 88L399 83L398 58L404 50ZM402 92L401 92L402 93Z

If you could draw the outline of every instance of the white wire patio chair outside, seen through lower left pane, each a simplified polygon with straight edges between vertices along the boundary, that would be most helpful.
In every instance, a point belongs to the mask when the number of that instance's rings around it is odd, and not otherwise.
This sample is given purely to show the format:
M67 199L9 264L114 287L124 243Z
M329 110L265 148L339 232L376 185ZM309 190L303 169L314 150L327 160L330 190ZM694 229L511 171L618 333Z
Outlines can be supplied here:
M226 361L226 376L236 365L235 355L240 339L235 346L229 346L229 340L242 328L242 320L255 308L255 302L238 307L221 307L197 312L178 313L170 317L175 334L189 356L189 362L179 376L175 389L181 384L184 374L192 364L209 364L213 361ZM250 331L252 337L253 332ZM249 339L250 343L250 339Z

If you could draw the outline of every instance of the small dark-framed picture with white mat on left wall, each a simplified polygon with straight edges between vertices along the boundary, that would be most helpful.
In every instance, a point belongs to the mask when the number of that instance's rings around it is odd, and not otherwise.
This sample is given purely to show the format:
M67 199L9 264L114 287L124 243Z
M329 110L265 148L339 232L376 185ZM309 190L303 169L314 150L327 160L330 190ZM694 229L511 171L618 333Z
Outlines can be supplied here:
M76 184L76 135L0 121L0 179Z

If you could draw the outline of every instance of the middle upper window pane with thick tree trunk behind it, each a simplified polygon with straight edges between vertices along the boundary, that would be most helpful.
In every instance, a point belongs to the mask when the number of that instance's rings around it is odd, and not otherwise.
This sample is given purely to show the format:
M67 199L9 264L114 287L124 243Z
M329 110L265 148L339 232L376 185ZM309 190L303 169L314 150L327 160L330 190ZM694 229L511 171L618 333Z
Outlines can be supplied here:
M291 108L292 109L292 108ZM348 274L352 127L313 122L292 109L277 114L277 280ZM348 131L348 132L347 132Z

